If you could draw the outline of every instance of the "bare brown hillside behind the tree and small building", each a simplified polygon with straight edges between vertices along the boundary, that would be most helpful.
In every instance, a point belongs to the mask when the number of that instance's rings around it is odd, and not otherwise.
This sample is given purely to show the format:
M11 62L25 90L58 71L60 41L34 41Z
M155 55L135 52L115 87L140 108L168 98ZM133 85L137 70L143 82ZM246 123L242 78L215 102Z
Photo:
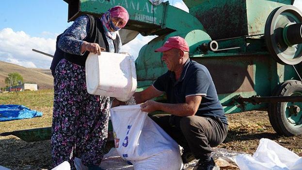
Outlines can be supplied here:
M5 87L4 80L8 73L17 72L22 75L24 82L38 84L39 89L53 89L53 77L50 70L40 68L25 68L0 61L0 87Z

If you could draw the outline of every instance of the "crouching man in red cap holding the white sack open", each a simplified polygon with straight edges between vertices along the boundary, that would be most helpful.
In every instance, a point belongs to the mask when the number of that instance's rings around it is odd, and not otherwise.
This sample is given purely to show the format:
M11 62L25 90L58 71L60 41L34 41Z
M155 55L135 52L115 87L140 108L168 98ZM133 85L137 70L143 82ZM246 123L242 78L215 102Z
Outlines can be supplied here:
M195 170L219 170L210 157L211 147L223 142L228 124L210 73L189 59L189 47L182 37L170 37L156 52L163 53L161 60L168 71L152 86L135 93L136 103L144 102L144 112L169 113L152 119L184 148L184 163L195 157L199 159ZM163 92L167 103L149 101Z

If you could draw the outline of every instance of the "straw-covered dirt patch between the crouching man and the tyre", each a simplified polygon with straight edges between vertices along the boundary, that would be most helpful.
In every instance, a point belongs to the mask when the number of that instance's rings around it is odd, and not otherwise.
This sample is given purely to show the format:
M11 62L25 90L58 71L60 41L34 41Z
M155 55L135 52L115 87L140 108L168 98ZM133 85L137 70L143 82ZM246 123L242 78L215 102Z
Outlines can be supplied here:
M259 139L268 138L302 156L302 135L278 136L270 125L266 111L248 111L230 114L227 117L229 120L228 135L219 147L253 154L257 149Z

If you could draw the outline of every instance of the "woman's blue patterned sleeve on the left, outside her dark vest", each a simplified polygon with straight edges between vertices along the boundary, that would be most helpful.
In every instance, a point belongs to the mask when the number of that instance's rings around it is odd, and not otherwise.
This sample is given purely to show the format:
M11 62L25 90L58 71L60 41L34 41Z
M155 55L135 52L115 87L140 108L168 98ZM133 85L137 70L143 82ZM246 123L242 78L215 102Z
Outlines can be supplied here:
M81 55L82 41L90 32L90 19L87 15L78 17L60 37L58 47L67 53Z

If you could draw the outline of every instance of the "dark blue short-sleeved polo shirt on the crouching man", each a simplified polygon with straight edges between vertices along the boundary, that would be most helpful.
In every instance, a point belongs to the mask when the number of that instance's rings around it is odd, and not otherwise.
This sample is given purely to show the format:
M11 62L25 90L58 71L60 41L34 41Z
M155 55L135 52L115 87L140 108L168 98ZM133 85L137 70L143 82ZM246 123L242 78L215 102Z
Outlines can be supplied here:
M223 106L218 100L215 85L207 68L195 61L187 60L178 81L175 73L167 71L153 84L159 91L166 92L169 103L185 103L187 96L202 96L196 116L220 118L227 124Z

